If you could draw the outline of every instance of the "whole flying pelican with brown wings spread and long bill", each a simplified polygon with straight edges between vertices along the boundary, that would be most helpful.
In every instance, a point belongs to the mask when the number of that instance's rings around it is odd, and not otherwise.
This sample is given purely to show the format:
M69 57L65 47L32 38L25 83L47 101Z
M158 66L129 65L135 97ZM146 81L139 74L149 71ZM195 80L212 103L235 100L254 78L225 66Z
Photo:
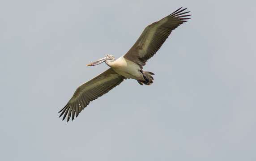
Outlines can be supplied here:
M143 71L143 66L160 49L171 31L190 19L183 12L187 8L179 8L170 15L148 25L132 48L123 56L115 59L113 55L106 55L102 59L88 64L94 66L105 62L110 68L93 79L80 85L67 105L60 110L63 119L68 115L67 121L72 121L93 100L109 92L119 85L124 79L131 78L138 81L140 85L151 85L154 73ZM59 113L60 113L59 112Z

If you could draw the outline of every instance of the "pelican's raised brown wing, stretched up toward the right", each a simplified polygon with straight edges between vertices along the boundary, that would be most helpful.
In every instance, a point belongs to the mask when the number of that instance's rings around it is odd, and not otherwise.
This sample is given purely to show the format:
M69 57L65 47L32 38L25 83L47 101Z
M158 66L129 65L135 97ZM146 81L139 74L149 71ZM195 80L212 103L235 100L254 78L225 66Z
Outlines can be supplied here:
M124 55L124 58L137 63L143 68L146 61L160 49L166 38L171 34L171 31L186 22L185 20L190 19L187 17L191 15L184 15L189 11L183 12L187 8L180 9L148 25L132 48Z

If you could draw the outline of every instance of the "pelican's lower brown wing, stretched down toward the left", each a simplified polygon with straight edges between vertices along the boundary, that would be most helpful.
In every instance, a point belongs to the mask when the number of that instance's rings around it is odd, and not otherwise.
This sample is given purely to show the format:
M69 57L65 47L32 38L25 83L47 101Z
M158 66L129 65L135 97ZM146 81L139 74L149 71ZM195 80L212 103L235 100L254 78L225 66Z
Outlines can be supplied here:
M115 86L119 85L123 80L124 76L117 74L112 68L109 68L100 75L80 85L73 94L73 97L68 101L67 105L60 110L60 112L62 111L60 116L64 114L62 120L64 120L68 114L67 121L69 121L72 114L73 121L75 113L77 117L81 110L83 110L90 101L93 101L107 93Z

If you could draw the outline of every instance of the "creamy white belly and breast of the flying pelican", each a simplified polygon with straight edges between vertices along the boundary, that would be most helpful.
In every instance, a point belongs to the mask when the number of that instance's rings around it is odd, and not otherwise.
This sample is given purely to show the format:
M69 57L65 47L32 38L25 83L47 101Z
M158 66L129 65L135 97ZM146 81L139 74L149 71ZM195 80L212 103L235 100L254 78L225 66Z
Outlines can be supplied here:
M111 63L111 68L118 74L125 76L126 78L132 78L136 80L144 80L140 70L141 68L134 62L120 57Z

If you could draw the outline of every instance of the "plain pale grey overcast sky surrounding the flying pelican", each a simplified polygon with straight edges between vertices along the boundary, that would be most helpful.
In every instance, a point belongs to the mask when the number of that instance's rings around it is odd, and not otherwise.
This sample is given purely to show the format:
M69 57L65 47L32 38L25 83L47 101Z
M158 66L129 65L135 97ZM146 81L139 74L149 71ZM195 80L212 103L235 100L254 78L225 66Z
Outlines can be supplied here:
M256 1L0 2L3 161L256 160ZM188 7L145 71L73 122L58 111L144 28Z

